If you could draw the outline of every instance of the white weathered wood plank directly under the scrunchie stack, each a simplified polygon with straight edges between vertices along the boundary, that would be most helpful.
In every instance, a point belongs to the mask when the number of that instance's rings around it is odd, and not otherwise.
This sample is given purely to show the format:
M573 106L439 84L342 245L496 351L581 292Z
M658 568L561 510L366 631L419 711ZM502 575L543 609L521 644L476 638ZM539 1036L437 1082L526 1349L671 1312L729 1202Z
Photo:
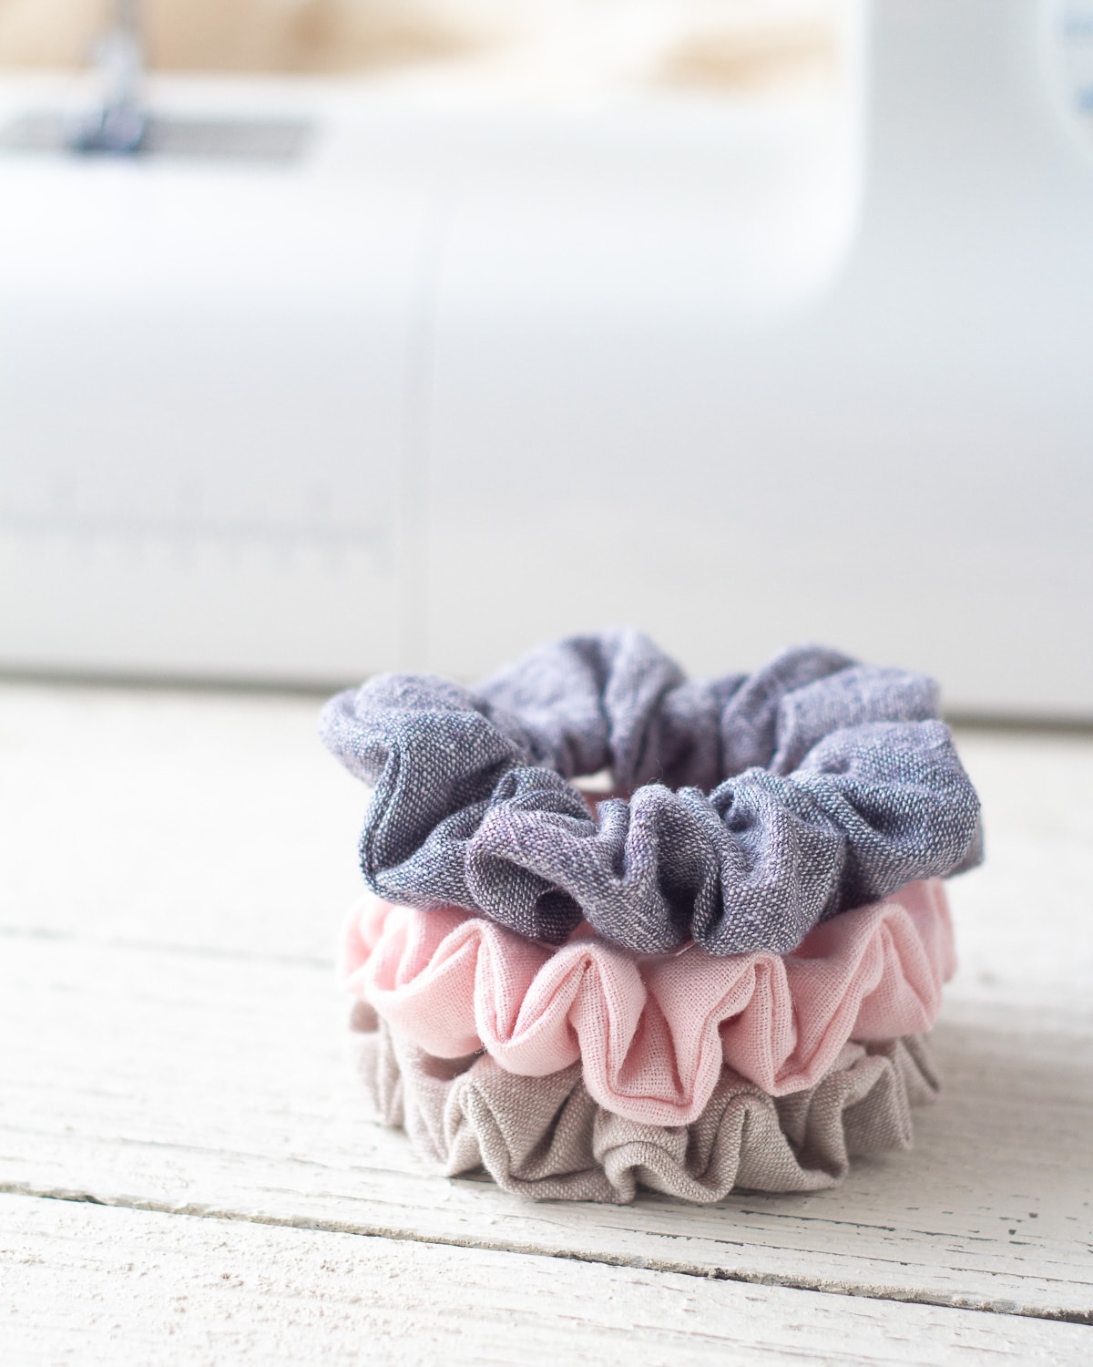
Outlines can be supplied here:
M1033 1315L1093 1312L1093 1047L985 1006L939 1031L914 1152L713 1210L527 1206L361 1118L327 971L10 938L0 1182L164 1210Z

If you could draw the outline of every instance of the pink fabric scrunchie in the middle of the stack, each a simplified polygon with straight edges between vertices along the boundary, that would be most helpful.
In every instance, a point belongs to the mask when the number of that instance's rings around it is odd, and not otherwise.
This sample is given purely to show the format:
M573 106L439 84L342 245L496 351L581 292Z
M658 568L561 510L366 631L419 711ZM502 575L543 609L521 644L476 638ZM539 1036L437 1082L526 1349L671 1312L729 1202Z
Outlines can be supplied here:
M697 1120L723 1064L781 1096L816 1085L848 1039L930 1029L955 968L940 879L832 917L786 957L634 956L596 935L551 950L369 895L343 962L354 995L428 1053L485 1048L527 1077L581 1058L601 1106L650 1125Z

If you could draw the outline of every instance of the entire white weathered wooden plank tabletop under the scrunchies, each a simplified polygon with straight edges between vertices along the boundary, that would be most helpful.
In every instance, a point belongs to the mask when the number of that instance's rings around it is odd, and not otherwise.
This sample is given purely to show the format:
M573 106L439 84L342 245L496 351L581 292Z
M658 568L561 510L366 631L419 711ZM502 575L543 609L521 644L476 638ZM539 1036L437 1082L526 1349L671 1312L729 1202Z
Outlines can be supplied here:
M271 696L0 685L0 1360L1093 1362L1093 737L967 731L989 860L910 1154L530 1206L370 1122L359 787Z

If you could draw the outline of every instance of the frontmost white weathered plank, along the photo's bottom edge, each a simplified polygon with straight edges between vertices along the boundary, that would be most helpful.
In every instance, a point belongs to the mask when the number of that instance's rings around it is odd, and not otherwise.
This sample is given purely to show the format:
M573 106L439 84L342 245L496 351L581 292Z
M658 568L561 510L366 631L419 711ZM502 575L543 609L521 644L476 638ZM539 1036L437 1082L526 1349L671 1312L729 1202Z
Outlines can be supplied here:
M11 1367L1088 1360L1092 1330L634 1267L0 1199Z

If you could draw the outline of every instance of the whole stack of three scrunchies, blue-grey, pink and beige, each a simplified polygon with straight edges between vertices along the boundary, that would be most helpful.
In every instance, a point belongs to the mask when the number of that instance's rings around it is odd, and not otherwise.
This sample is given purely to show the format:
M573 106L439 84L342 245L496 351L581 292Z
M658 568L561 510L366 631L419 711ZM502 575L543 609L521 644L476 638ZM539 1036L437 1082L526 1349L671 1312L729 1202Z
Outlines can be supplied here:
M635 632L333 697L373 794L344 969L381 1117L533 1199L835 1185L906 1148L980 804L936 685L818 647L687 681ZM598 776L611 796L574 779Z

